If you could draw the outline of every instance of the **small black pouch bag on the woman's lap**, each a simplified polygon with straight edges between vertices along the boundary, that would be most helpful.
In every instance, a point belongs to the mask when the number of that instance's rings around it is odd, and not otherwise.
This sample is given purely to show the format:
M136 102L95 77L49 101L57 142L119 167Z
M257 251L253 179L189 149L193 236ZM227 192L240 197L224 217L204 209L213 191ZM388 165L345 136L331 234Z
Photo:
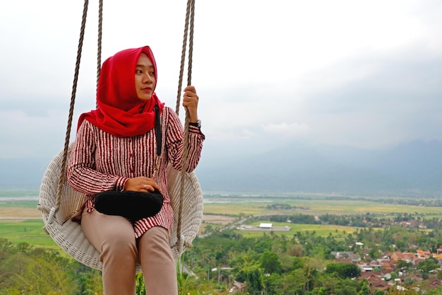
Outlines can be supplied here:
M132 190L108 190L95 196L95 209L107 215L124 216L129 221L154 216L162 208L161 192L135 192Z

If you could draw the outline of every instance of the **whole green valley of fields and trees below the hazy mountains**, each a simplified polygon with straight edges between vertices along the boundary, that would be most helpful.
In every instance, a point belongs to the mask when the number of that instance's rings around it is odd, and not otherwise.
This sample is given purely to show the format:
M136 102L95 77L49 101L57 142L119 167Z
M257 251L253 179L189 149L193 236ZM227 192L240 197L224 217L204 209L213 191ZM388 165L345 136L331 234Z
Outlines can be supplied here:
M315 195L225 200L205 204L205 216L210 218L201 230L207 236L196 238L177 263L180 295L227 295L237 293L237 287L243 294L265 295L442 294L429 281L442 279L433 257L389 260L391 270L378 268L389 276L376 284L360 277L357 264L335 260L335 253L358 257L359 265L392 253L436 254L442 245L442 210L430 206L431 199L422 206ZM41 219L26 220L30 214L40 215L35 208L35 203L0 207L2 215L7 212L3 216L25 219L0 221L0 294L102 294L100 272L61 253L42 230ZM289 230L256 231L261 223ZM395 287L399 277L403 289ZM136 284L137 295L144 295L142 274L137 274ZM382 291L381 284L387 286Z

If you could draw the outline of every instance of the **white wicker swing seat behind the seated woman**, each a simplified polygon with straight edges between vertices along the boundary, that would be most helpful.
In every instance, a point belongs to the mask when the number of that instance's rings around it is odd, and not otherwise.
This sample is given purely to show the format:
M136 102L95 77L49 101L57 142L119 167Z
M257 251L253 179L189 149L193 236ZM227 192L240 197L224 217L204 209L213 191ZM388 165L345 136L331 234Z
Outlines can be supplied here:
M72 144L69 146L70 154ZM100 253L85 238L81 226L71 221L71 216L78 212L83 203L84 195L64 183L61 191L61 201L57 209L57 190L61 177L63 151L60 151L49 163L40 185L39 205L44 221L44 230L49 233L54 242L72 258L83 265L102 270ZM66 161L68 163L68 161ZM203 192L195 173L186 173L184 180L184 195L181 213L181 235L177 237L179 199L181 193L181 172L171 166L167 168L168 192L174 209L174 226L170 233L169 245L174 258L191 248L192 241L198 233L203 217ZM66 178L65 178L66 179ZM141 271L138 262L136 272Z

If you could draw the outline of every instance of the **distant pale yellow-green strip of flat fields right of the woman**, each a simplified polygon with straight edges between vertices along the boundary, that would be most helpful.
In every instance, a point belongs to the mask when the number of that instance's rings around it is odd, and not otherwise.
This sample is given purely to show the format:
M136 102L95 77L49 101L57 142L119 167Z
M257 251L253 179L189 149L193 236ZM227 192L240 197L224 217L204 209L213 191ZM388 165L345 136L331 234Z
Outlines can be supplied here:
M225 202L205 202L204 212L210 214L259 215L259 214L378 214L390 215L398 213L422 214L425 216L441 216L442 200L438 199L403 199L381 197L326 197L297 195L263 195L260 197L244 197L230 195L226 197L207 197L209 201L224 199ZM227 202L226 202L227 201ZM412 204L407 204L412 203ZM246 206L244 206L246 204ZM285 205L282 209L269 207L271 204ZM437 206L436 206L437 204Z

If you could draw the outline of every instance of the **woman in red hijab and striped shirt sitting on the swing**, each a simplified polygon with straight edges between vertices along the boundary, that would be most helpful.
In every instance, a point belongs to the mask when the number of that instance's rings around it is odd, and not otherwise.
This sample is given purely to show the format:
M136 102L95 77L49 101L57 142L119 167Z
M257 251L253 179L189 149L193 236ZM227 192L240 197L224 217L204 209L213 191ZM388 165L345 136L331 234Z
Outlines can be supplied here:
M177 294L177 271L169 246L174 217L167 193L166 168L180 170L183 128L177 114L155 95L157 66L149 47L123 50L103 65L97 88L97 110L78 121L76 142L68 164L68 182L85 193L81 214L74 220L100 252L105 295L135 294L135 266L139 260L146 294ZM155 105L161 114L162 156L155 170ZM184 89L189 110L189 155L186 171L196 168L204 135L198 121L198 96ZM160 212L131 223L122 216L94 208L94 197L107 190L150 192L164 196Z

